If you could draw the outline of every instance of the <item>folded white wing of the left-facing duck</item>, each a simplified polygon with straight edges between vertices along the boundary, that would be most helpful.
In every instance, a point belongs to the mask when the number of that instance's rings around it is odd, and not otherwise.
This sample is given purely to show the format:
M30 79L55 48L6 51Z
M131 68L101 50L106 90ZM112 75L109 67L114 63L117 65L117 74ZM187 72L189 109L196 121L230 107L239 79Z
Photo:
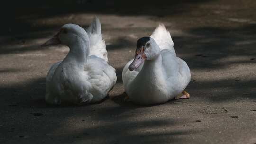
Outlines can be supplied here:
M115 69L104 59L91 55L84 66L91 83L91 93L95 96L105 96L116 84ZM94 99L96 100L96 99Z

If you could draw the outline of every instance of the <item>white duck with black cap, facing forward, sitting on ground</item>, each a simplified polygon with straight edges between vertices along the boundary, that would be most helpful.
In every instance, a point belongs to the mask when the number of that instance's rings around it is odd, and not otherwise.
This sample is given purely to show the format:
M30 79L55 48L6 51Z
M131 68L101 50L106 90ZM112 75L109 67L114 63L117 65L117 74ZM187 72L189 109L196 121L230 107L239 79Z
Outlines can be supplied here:
M128 95L125 100L147 105L189 98L184 91L191 78L189 67L176 56L171 35L163 24L150 37L137 41L135 53L122 72Z

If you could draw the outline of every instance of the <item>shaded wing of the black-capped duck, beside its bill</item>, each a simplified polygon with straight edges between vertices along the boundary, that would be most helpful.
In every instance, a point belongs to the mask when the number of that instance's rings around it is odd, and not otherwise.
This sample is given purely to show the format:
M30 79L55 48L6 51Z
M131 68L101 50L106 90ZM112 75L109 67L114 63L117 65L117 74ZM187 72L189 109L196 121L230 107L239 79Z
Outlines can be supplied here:
M128 85L131 81L134 80L134 78L137 76L137 74L141 71L143 64L142 63L137 69L130 71L129 70L129 65L132 63L133 59L130 60L128 63L126 63L125 67L123 68L123 72L122 72L122 79L123 79L123 84L125 86L125 88L127 87L126 85Z

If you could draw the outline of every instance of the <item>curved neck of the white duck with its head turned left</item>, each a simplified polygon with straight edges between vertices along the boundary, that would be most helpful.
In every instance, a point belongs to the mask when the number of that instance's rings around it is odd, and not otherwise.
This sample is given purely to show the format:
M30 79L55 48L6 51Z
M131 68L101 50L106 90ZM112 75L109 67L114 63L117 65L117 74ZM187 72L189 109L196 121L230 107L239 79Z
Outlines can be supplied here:
M89 55L89 41L86 38L79 37L77 42L68 45L70 51L64 61L72 61L76 66L83 69L84 63Z

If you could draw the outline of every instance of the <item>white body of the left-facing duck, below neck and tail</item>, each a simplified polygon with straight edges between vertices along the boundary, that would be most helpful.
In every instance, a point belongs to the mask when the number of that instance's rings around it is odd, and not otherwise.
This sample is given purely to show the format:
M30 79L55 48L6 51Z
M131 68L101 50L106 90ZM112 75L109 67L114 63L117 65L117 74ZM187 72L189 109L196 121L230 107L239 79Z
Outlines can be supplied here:
M60 63L53 64L46 77L45 99L50 104L60 104L62 100L74 104L98 102L117 81L115 69L95 55L84 64L84 72L77 72L72 66L70 71L66 66L59 66ZM52 79L54 74L55 79ZM77 93L81 91L78 89L83 89L84 93Z

